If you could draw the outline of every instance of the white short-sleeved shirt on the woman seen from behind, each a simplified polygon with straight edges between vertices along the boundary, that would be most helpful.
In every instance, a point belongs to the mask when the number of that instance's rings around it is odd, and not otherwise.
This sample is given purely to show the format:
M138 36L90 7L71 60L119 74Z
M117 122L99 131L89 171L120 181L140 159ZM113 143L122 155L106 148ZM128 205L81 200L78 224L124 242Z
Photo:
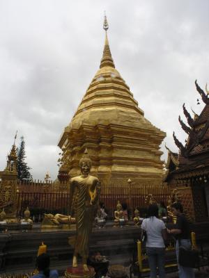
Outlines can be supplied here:
M162 220L152 216L143 220L141 229L147 234L146 247L165 247L162 238L162 229L166 229Z

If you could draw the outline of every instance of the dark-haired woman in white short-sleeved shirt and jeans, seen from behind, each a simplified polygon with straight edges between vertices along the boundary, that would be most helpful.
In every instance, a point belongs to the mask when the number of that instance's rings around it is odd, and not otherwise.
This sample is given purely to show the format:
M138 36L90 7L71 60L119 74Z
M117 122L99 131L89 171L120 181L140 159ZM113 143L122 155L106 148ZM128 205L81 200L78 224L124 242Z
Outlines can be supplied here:
M150 278L165 277L164 271L164 240L167 238L167 229L162 220L158 219L157 204L150 204L148 207L148 218L141 224L142 234L146 232L146 254L150 266Z

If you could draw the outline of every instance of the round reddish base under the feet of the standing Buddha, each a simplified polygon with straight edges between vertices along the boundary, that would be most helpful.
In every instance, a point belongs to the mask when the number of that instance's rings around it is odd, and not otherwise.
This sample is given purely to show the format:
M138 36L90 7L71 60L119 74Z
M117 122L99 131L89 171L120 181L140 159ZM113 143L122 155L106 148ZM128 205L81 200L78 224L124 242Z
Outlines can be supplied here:
M65 270L65 278L93 278L95 276L95 270L88 265L88 271L85 271L83 265L79 265L77 268L69 267Z

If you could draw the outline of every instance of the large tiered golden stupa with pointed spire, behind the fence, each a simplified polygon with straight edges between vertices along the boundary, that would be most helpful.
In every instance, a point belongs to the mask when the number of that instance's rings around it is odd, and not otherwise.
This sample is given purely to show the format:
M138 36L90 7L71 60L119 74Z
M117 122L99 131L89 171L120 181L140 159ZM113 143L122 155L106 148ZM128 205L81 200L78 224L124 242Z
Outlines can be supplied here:
M91 172L102 181L102 186L127 186L129 178L137 183L160 183L160 144L166 133L146 120L115 69L107 29L104 17L106 34L100 70L59 141L63 150L59 179L62 175L79 174L79 159L87 147L93 162Z

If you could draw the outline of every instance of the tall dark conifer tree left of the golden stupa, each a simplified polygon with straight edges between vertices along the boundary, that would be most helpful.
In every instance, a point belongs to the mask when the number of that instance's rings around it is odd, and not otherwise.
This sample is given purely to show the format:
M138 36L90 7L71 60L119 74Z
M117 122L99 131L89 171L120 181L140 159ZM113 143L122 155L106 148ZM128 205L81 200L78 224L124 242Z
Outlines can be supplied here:
M25 162L25 142L24 137L20 138L20 147L17 149L17 173L20 181L32 181L33 177L30 173L30 167Z

